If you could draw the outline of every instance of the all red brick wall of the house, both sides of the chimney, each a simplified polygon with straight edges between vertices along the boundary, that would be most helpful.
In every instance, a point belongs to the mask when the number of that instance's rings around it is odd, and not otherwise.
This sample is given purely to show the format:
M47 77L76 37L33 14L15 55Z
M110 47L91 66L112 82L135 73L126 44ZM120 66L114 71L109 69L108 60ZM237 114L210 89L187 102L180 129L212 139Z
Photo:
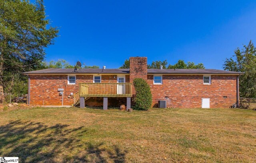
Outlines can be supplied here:
M71 92L78 91L78 83L93 82L93 75L76 75L74 85L68 84L67 78L67 75L31 76L30 104L61 105L62 96L59 95L58 88L64 88L64 105L71 105L73 99L68 96ZM202 75L163 75L163 84L154 85L153 75L147 75L147 82L150 84L153 96L153 106L157 107L158 100L167 100L168 107L201 108L202 98L210 98L211 108L228 108L236 103L236 76L212 75L211 78L211 84L204 85ZM117 82L117 76L102 75L102 82ZM126 82L130 82L129 75L126 75ZM168 96L168 99L165 99L165 96ZM91 98L86 101L86 104L101 106L101 100ZM116 99L112 102L114 100ZM124 101L121 100L121 103Z

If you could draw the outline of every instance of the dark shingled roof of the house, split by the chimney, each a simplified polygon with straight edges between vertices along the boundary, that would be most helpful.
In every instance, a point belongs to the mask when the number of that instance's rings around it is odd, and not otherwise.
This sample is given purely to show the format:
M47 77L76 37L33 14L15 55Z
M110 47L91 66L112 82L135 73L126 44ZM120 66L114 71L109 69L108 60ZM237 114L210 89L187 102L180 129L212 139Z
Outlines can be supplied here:
M29 71L24 74L129 74L130 69L43 69ZM148 69L148 74L244 74L236 71L224 71L216 69Z

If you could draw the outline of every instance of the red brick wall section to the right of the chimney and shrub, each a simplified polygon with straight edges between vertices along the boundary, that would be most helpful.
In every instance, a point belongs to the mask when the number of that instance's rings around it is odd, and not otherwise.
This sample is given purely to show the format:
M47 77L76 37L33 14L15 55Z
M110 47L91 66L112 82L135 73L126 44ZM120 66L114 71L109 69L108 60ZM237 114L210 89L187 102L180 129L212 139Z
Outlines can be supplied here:
M157 85L153 84L153 75L148 75L152 106L157 107L158 100L166 100L168 107L201 108L202 98L210 98L210 108L228 108L236 103L236 76L211 78L211 84L206 85L203 75L163 75L162 85Z

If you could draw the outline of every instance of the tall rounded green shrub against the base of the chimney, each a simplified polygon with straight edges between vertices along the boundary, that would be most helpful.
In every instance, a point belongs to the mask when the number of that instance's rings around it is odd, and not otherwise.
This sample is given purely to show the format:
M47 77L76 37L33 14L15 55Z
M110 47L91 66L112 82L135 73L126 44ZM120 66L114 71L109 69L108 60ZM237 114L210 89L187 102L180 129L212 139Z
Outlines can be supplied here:
M136 91L134 100L134 109L148 110L152 105L152 94L148 83L141 78L136 78L133 81Z

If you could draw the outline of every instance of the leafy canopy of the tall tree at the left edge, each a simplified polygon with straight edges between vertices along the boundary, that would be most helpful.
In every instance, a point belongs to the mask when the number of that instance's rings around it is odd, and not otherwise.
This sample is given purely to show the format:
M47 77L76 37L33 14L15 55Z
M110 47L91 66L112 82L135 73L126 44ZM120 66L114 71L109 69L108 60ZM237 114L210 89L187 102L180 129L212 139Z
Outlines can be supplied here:
M0 22L1 89L5 74L20 76L42 66L44 48L53 44L58 29L46 19L43 0L1 0Z

